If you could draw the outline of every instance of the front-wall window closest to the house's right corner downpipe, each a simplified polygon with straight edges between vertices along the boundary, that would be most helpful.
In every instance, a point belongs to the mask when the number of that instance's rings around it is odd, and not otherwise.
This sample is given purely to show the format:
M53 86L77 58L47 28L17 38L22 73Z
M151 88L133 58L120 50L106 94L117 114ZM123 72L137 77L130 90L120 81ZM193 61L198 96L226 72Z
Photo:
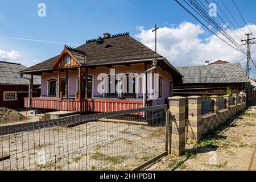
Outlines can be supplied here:
M126 75L125 83L123 83L125 86L123 96L124 97L136 97L135 93L135 77Z

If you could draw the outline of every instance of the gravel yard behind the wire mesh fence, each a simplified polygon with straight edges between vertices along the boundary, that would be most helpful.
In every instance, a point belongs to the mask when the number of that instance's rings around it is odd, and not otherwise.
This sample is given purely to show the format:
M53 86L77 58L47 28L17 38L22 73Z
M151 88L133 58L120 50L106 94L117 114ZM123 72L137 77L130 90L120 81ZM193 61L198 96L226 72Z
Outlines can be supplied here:
M0 137L1 170L128 170L164 151L165 127L88 122ZM8 159L8 156L10 158Z

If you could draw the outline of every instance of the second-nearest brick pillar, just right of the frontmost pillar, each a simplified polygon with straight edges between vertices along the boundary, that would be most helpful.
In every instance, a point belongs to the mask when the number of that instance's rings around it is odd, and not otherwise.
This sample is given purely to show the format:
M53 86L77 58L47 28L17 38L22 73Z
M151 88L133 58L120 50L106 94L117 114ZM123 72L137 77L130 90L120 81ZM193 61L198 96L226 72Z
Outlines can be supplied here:
M202 97L188 97L188 141L196 143L204 130L204 123L201 120Z

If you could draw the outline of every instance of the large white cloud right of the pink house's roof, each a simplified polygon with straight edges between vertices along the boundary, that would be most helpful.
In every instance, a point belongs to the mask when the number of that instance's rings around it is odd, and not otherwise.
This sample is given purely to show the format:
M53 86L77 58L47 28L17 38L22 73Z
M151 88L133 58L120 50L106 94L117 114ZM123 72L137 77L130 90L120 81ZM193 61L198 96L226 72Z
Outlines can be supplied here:
M256 25L250 24L249 27L253 35L256 35ZM142 26L138 30L140 32L135 37L154 50L155 34L152 34L151 30L144 30ZM243 32L247 32L248 30L246 27L243 27L233 31L236 32L236 35L241 36L242 34L243 38L245 38ZM230 30L228 32L233 38L236 38ZM206 36L204 29L199 24L189 22L180 23L177 27L159 28L158 53L166 57L175 66L203 65L206 60L213 62L220 59L230 61L231 63L239 62L245 70L245 54L228 46L228 44L215 35L208 36L205 39L201 38L202 36ZM241 40L237 39L236 41L241 44ZM251 46L251 49L256 52L255 45ZM251 57L256 61L256 55L252 54ZM256 68L251 64L252 77L256 77L255 70Z

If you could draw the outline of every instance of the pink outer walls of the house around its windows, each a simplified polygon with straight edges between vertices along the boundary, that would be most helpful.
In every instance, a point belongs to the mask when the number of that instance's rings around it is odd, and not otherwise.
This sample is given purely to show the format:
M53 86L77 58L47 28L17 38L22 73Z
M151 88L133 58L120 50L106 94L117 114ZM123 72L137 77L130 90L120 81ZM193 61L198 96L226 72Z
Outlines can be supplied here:
M140 75L144 72L144 64L136 64L131 65L130 67L126 67L125 65L120 66L114 66L112 69L115 69L115 74L118 73L138 73ZM101 80L97 80L97 76L100 73L110 73L110 68L106 67L98 67L96 69L88 69L88 74L91 74L94 76L94 96L95 97L102 97L102 94L98 93L97 86L100 84ZM156 68L156 73L159 73L160 76L163 78L163 98L159 100L154 100L153 105L155 104L164 104L165 99L170 97L170 80L172 80L172 76L170 76L169 73L162 71L161 68ZM82 69L82 75L85 75L85 69ZM78 73L76 71L69 71L68 77L69 77L69 96L75 97L76 92L76 84L77 84L77 76ZM42 97L47 96L47 80L49 78L56 78L57 79L57 72L53 73L43 73L42 74ZM61 77L65 77L65 73L61 73ZM150 79L148 77L147 79L147 85L150 85ZM139 83L139 97L142 97L142 81Z

